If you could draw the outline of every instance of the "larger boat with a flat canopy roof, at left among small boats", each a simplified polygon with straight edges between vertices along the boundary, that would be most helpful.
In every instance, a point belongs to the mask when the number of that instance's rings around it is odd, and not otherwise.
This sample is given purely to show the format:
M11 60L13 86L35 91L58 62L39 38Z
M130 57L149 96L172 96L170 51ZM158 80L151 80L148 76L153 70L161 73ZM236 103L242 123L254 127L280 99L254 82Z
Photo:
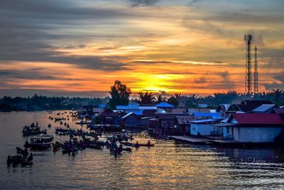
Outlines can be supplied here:
M30 142L26 143L26 148L45 150L49 149L53 144L53 137L50 136L37 136L30 139Z

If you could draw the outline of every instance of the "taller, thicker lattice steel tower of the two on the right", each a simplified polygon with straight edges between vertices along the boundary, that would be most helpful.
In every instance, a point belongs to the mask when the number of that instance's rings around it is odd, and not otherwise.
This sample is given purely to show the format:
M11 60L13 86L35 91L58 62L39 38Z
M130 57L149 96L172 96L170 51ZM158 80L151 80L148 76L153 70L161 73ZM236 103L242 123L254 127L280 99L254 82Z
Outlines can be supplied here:
M245 92L251 93L251 34L244 36L246 41L246 81L245 81Z

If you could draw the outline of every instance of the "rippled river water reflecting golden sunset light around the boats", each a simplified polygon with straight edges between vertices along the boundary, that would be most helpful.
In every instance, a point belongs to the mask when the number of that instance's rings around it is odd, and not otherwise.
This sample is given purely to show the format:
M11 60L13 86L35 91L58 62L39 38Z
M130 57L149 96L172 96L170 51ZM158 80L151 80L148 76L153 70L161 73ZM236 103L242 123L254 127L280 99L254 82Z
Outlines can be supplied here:
M67 114L64 115L66 117ZM85 149L72 157L61 152L33 152L32 167L7 167L26 139L24 125L42 129L60 124L47 112L0 113L0 189L283 189L283 149L218 149L135 134L135 142L155 147L133 149L116 159L109 149ZM52 115L56 117L55 113ZM67 121L80 128L75 121ZM85 127L82 127L86 130ZM63 142L68 137L55 136Z

